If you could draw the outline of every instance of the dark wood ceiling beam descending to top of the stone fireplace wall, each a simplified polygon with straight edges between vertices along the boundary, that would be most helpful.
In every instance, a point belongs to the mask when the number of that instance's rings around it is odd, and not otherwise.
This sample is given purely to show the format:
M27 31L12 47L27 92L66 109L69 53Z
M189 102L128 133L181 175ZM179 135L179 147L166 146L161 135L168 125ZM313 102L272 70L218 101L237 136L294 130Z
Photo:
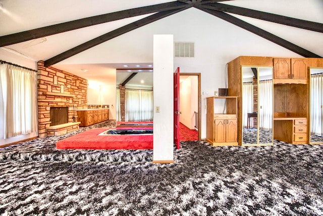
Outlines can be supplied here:
M52 58L44 61L44 66L48 67L50 65L56 64L56 63L58 63L60 61L63 61L65 59L67 59L67 58L70 58L71 56L74 56L74 55L76 55L78 53L81 53L81 52L83 52L83 51L85 51L87 49L90 49L90 48L92 48L92 47L94 47L96 45L99 45L102 42L105 42L107 40L110 40L112 38L120 36L120 35L122 35L124 33L132 31L132 30L134 30L136 28L139 28L139 27L142 27L142 26L147 25L149 23L152 23L152 22L154 22L156 20L159 20L159 19L168 17L170 15L176 14L176 13L181 12L183 10L186 10L186 9L188 9L190 7L191 6L187 5L187 7L181 8L181 9L158 12L156 14L153 14L153 15L150 15L148 17L145 17L145 18L143 18L141 20L138 20L138 21L135 21L135 22L130 23L128 25L125 25L123 27L120 27L120 28L118 28L116 30L113 30L113 31L111 31L109 33L106 33L106 34L98 36L98 37L96 37L94 39L91 39L91 40L85 42L84 44L81 44L81 45L79 45L77 47L74 47L74 48L64 52L64 53L61 53L61 54L59 54L59 55L57 55L55 57L52 57Z

